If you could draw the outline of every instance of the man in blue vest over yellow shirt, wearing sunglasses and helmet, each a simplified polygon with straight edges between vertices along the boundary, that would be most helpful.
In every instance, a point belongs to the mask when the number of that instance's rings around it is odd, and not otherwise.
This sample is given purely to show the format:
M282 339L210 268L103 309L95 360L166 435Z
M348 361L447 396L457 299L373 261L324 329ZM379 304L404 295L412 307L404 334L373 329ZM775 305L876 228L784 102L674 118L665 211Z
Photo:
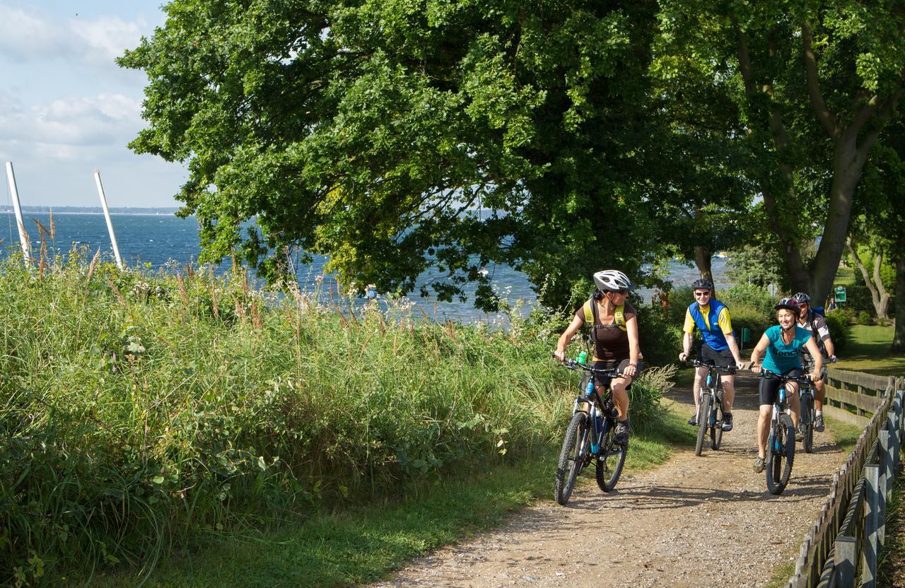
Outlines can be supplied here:
M719 300L712 299L713 282L696 280L691 284L694 290L694 302L685 312L685 326L682 330L682 352L679 359L685 361L691 352L691 340L694 328L698 327L703 341L698 352L698 360L709 365L729 367L733 363L738 369L745 369L745 364L738 354L738 344L732 334L732 321L729 308ZM699 367L694 375L694 414L688 423L698 425L700 406L700 383L707 377L707 368ZM735 400L735 376L723 375L723 431L732 431L732 401Z

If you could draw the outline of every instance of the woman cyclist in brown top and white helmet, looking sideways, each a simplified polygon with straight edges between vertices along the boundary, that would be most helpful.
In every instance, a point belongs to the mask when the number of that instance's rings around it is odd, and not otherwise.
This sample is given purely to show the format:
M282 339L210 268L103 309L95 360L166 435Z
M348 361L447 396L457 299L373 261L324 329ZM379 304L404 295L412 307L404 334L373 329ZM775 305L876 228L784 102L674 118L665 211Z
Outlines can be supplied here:
M594 341L594 364L597 369L618 368L620 376L610 382L613 400L619 418L616 422L616 442L628 443L630 430L628 422L628 388L632 380L641 372L641 357L638 351L638 318L631 304L625 301L634 289L632 280L622 271L604 270L594 274L594 300L592 303L594 324L591 325L591 339ZM578 308L575 318L559 336L557 350L553 352L557 361L566 360L566 346L578 329L585 324L585 310ZM597 389L606 382L595 375Z

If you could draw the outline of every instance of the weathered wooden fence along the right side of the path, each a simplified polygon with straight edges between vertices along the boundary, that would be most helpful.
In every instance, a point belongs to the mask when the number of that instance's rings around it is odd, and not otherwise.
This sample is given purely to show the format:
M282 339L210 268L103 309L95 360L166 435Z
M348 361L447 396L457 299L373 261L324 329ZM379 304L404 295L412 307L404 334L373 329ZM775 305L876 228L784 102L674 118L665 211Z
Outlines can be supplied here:
M839 405L829 412L824 403L824 413L848 413L867 424L805 533L788 588L874 586L877 550L885 539L886 500L903 441L905 379L830 369L829 381L834 385L827 397ZM866 413L872 413L869 420Z

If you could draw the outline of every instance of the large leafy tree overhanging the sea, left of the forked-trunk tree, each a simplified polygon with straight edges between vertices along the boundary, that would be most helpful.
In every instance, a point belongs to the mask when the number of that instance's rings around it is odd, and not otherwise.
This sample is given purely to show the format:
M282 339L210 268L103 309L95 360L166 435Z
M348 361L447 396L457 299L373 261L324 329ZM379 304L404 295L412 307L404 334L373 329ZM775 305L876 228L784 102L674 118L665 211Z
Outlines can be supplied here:
M236 250L275 277L294 246L400 292L433 268L442 299L473 280L485 307L481 268L502 262L561 302L661 246L644 180L656 10L175 0L119 60L148 73L131 147L186 162L177 198L206 261Z

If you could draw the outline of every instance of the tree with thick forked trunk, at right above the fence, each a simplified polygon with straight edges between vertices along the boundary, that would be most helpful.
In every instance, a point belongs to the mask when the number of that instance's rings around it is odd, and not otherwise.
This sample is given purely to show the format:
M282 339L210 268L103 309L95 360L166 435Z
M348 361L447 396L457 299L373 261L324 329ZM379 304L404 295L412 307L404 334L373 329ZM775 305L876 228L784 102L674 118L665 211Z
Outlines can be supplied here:
M659 47L738 104L757 181L793 289L824 299L853 198L905 71L900 2L663 0ZM721 68L731 58L729 71ZM812 260L800 244L820 237Z

